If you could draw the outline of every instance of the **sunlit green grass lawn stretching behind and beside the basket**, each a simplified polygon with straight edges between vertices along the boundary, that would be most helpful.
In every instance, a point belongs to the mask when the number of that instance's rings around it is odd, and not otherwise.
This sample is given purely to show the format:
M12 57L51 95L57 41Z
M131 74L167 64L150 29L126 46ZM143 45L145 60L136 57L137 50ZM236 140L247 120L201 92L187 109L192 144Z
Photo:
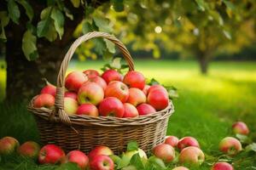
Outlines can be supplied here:
M101 67L102 61L85 61L73 62L69 69ZM207 76L201 76L197 63L192 61L137 60L136 70L178 88L180 97L173 101L175 113L170 118L168 134L179 138L194 136L207 155L218 154L220 139L234 135L232 122L241 120L247 122L250 137L256 141L256 62L213 62ZM3 88L3 71L0 76ZM10 135L21 143L38 140L35 123L24 105L1 105L0 114L0 138ZM253 157L236 163L236 169L256 168L255 154Z

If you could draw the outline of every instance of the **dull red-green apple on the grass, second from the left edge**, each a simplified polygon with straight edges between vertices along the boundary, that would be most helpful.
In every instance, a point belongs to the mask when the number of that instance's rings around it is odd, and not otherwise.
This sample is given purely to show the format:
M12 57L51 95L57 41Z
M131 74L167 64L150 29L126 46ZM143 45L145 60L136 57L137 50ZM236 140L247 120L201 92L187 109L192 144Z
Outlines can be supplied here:
M38 157L40 151L40 145L34 141L27 141L24 144L21 144L17 152L21 156L36 158Z

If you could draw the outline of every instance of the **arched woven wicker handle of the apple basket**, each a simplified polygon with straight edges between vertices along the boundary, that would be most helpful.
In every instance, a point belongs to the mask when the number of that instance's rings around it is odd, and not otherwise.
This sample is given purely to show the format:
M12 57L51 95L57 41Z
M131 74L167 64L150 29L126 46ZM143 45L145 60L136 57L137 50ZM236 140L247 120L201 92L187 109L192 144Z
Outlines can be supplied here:
M131 54L129 53L127 48L125 48L125 45L113 35L110 35L105 32L93 31L85 34L84 36L79 37L75 42L73 42L71 47L68 49L67 54L65 55L61 63L61 69L57 77L57 92L55 95L55 111L53 113L53 116L55 113L57 113L57 115L60 117L61 122L64 122L66 124L71 123L69 117L67 116L67 113L65 113L64 111L65 76L67 71L67 65L70 59L72 58L76 48L78 48L82 42L86 42L87 40L90 40L94 37L103 37L113 42L123 54L125 61L129 65L129 70L134 70L133 59L131 58Z

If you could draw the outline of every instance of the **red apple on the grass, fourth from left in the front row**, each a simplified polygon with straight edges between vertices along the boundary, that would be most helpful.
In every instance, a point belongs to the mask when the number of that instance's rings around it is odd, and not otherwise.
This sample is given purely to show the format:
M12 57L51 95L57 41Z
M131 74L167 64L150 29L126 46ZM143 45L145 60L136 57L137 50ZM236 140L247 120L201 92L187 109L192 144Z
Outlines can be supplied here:
M72 150L67 153L62 163L73 162L76 163L81 170L89 167L89 158L80 150Z

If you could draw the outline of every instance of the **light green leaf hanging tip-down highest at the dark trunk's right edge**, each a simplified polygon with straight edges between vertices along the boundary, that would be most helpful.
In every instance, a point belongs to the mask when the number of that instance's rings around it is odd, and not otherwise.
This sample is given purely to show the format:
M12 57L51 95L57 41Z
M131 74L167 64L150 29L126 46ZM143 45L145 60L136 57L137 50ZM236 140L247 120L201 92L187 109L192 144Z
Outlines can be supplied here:
M61 13L61 10L58 8L53 8L50 17L55 22L55 30L58 32L59 37L61 39L63 33L64 33L64 15Z

